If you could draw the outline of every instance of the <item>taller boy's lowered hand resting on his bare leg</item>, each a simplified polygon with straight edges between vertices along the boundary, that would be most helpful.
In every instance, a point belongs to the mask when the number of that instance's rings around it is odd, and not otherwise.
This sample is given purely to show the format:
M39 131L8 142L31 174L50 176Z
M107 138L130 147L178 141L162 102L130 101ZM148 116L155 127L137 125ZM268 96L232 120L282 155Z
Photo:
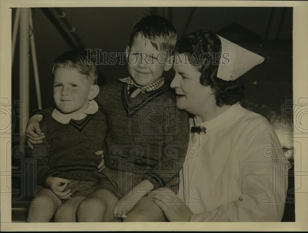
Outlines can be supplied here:
M120 201L116 204L113 209L113 217L117 220L126 218L126 214L132 210L132 208L139 202L140 199L137 199L134 196L124 196L120 199Z

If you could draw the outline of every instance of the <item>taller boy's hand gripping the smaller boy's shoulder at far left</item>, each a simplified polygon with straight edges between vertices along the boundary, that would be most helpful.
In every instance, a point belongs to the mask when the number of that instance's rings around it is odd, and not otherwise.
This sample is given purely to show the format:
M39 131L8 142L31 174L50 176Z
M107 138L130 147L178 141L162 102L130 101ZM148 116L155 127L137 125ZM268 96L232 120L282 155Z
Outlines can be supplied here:
M43 116L41 114L35 114L32 116L27 124L26 137L28 138L28 145L33 149L32 144L40 144L45 137L44 133L41 132L39 128L39 122L42 120Z

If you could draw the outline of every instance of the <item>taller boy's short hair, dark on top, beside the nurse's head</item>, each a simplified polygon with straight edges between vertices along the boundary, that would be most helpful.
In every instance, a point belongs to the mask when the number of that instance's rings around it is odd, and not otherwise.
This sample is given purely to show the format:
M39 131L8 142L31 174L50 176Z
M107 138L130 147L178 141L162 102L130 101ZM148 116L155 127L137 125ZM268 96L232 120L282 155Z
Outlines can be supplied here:
M140 18L133 26L129 37L129 46L141 34L148 39L156 50L174 49L176 45L176 30L172 23L160 15L147 15Z

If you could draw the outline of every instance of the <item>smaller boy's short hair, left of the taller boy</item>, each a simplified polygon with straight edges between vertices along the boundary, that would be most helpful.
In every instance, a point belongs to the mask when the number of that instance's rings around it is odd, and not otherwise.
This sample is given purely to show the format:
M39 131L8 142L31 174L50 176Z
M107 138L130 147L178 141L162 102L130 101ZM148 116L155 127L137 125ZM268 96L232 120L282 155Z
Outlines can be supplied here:
M87 75L87 80L92 84L97 84L98 67L95 58L88 56L86 50L75 49L65 51L58 56L52 64L52 74L55 69L76 69L80 74Z

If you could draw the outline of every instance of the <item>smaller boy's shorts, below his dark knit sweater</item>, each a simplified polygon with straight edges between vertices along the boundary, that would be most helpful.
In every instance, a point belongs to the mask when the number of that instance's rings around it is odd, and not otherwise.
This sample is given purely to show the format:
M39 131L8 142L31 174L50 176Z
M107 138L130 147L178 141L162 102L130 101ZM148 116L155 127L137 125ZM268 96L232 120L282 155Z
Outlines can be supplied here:
M93 181L84 181L84 180L70 180L68 185L66 186L65 191L71 190L71 197L88 197L90 194L95 192L97 189L101 187L100 183L93 182ZM36 194L38 194L40 191L47 189L43 186L37 185L36 186ZM67 200L61 199L62 202L65 202Z

